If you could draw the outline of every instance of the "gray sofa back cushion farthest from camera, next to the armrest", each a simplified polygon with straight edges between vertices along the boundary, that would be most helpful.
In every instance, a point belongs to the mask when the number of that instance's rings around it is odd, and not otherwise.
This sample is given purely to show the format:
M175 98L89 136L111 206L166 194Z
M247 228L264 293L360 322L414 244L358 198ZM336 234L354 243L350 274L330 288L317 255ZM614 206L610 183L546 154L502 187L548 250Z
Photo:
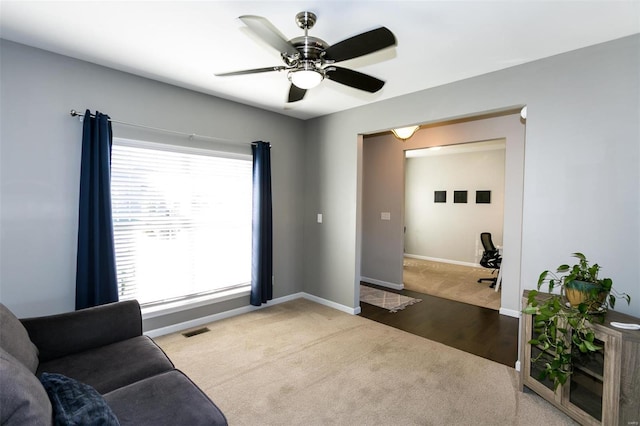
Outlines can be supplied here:
M38 368L38 348L20 320L0 303L0 347L20 361L32 373Z

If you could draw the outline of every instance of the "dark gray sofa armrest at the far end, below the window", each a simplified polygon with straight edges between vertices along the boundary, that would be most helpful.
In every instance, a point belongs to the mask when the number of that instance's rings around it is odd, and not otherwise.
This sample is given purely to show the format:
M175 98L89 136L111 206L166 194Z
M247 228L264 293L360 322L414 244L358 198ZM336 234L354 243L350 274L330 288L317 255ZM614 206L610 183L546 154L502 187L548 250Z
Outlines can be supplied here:
M142 314L136 300L20 321L39 350L40 362L142 335Z

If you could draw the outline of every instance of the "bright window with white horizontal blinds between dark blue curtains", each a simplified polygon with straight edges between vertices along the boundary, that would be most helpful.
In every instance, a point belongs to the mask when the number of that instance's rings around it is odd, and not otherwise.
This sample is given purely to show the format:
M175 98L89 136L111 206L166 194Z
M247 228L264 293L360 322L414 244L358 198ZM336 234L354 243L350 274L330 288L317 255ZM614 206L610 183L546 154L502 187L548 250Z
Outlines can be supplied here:
M111 161L120 300L249 285L251 156L114 138Z

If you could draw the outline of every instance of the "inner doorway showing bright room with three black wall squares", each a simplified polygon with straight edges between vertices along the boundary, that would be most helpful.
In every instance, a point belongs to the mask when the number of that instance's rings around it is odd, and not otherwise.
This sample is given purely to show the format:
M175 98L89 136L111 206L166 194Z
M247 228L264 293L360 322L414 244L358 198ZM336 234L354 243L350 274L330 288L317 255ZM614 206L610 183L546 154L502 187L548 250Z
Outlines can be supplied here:
M478 280L497 275L479 265L480 234L502 247L505 149L497 139L405 151L405 289L500 309Z

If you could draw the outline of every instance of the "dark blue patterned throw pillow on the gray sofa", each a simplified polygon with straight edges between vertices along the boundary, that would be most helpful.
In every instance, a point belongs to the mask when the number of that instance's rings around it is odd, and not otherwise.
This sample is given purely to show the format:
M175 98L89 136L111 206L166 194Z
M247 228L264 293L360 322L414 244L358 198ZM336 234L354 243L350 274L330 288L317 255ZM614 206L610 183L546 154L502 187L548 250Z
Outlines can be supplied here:
M42 373L40 381L51 400L55 426L120 425L107 402L93 387L54 373Z

